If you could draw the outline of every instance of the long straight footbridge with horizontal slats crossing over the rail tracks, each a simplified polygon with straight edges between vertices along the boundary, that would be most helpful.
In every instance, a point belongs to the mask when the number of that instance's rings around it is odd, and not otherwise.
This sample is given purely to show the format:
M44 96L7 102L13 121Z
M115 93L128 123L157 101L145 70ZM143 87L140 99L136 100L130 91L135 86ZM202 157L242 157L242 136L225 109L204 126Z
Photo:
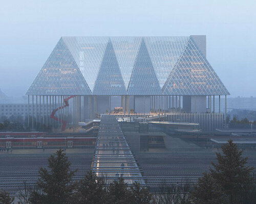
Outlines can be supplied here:
M122 176L124 182L145 185L139 168L119 123L113 115L102 115L93 161L93 172L108 182Z

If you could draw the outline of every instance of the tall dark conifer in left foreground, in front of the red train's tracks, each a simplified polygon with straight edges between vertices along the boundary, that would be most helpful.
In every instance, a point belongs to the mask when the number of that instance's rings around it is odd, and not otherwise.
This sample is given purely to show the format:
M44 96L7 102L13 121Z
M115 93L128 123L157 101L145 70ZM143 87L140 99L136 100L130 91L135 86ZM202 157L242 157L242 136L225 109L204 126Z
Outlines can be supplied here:
M74 183L72 178L75 171L70 170L68 161L62 149L56 151L48 159L48 169L40 168L37 186L39 190L31 193L31 200L40 200L40 203L64 204L70 203ZM32 202L35 203L35 202Z

